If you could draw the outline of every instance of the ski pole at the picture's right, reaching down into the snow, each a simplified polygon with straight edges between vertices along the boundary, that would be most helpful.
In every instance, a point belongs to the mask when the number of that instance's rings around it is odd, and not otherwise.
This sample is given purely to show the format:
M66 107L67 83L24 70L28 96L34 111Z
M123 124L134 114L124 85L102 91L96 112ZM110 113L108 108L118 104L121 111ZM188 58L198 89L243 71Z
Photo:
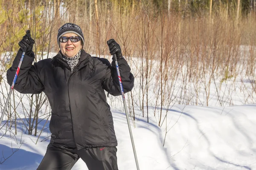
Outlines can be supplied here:
M121 90L121 94L122 94L122 99L123 99L123 102L124 102L125 115L126 115L126 119L127 119L127 123L128 123L129 132L130 132L132 148L133 148L133 151L134 151L134 158L135 158L137 170L140 170L139 163L138 163L138 160L137 160L137 154L136 154L136 150L135 150L134 140L133 140L133 136L132 136L132 132L131 132L131 125L130 125L130 120L129 120L128 111L127 111L126 102L125 102L125 93L124 93L123 86L122 86L122 79L121 79L120 72L119 72L119 67L118 67L118 63L117 63L117 59L116 59L116 54L114 54L113 57L114 57L115 62L116 62L116 71L117 71L117 76L118 76L118 79L119 79L119 85L120 85L120 90Z

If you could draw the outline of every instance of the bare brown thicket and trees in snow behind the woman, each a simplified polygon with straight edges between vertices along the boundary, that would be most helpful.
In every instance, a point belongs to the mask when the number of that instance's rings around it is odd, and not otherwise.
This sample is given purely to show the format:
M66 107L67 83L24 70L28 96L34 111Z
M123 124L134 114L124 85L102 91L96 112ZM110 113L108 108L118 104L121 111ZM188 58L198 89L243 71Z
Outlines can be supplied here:
M9 91L6 71L26 30L35 40L37 62L58 52L58 28L67 22L81 26L84 49L93 56L111 59L106 43L111 38L121 45L136 78L137 88L127 97L134 119L135 110L146 117L153 108L162 126L175 104L256 103L256 0L0 0L0 5L2 110ZM233 98L237 91L242 95ZM114 108L123 107L121 100L112 101L110 96ZM14 92L7 102L5 132L17 134L19 120L39 139L47 127L38 130L39 121L47 123L51 115L46 96Z

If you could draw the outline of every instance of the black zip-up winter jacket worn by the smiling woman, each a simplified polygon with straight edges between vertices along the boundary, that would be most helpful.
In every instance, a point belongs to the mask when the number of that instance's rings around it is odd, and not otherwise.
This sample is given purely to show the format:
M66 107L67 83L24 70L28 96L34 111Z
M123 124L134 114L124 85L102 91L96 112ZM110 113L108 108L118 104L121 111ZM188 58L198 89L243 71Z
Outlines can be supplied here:
M7 71L9 85L21 55L19 50ZM77 147L78 150L116 146L112 113L105 96L105 91L113 96L120 95L114 61L111 65L107 59L91 57L82 50L79 63L71 74L61 52L32 65L34 58L33 52L24 56L14 89L23 94L46 94L52 109L51 142ZM133 88L134 77L125 59L118 63L126 93Z

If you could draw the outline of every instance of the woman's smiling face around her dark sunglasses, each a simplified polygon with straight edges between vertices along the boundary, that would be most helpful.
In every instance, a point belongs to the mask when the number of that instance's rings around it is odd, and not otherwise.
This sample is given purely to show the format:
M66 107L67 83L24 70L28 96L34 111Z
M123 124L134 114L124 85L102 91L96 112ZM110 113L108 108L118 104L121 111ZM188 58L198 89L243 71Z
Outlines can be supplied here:
M67 33L67 34L64 34L62 37L73 37L73 36L78 36L78 35L74 33ZM61 53L64 56L74 57L82 48L81 40L78 42L71 42L70 40L68 40L67 42L60 42L60 48L61 48Z

